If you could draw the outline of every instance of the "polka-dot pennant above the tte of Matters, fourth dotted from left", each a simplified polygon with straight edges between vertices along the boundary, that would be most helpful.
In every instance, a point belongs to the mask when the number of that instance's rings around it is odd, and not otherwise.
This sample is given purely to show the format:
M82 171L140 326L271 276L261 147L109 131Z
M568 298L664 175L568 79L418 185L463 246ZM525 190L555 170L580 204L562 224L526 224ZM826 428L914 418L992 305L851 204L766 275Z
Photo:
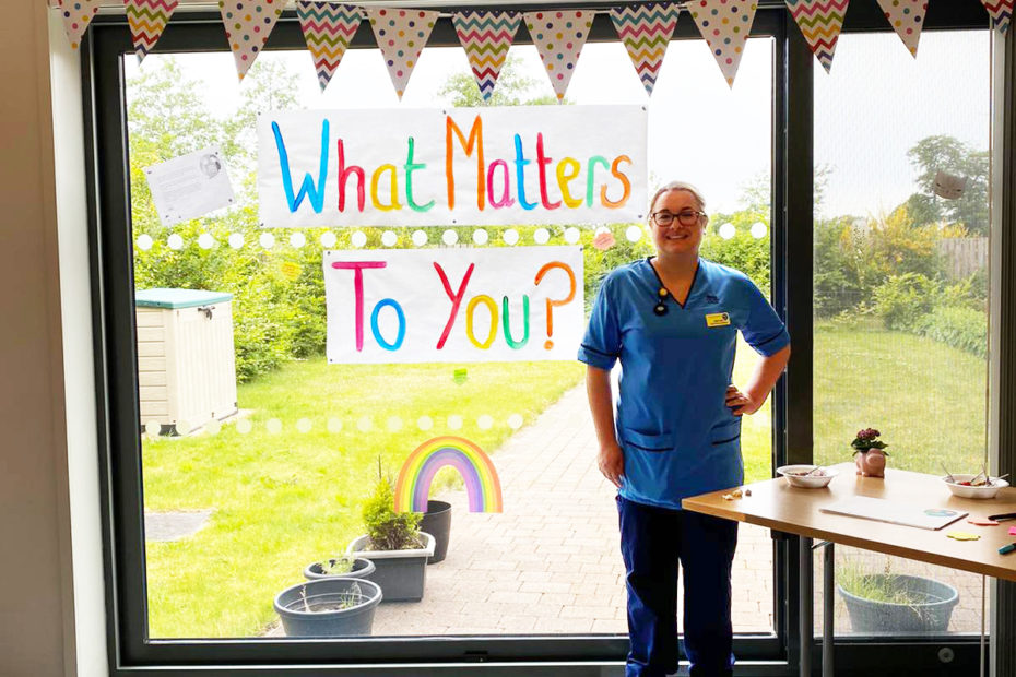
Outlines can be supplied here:
M565 98L594 15L592 10L550 10L522 14L558 102Z

